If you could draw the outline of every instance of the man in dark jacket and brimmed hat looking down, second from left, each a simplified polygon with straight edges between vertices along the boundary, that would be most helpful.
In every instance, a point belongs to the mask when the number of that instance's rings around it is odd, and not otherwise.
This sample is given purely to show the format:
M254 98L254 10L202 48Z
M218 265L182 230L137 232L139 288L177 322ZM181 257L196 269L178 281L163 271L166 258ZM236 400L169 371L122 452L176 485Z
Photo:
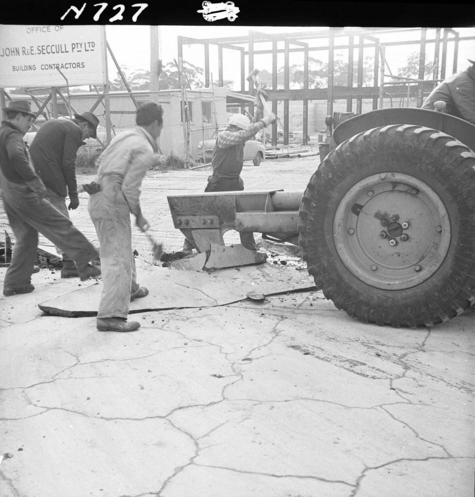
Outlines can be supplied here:
M69 218L68 210L79 207L76 155L87 138L96 138L99 119L92 112L75 114L75 119L49 119L39 129L29 152L35 170L46 186L45 198ZM69 205L66 206L66 195ZM77 277L78 268L70 255L63 257L62 278Z

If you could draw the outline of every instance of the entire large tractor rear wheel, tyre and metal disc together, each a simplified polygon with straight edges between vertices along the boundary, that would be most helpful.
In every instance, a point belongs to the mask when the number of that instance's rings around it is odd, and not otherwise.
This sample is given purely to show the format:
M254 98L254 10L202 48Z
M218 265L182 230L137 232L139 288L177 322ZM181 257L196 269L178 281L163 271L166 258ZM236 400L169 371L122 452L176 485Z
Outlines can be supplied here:
M433 326L475 303L475 155L444 133L355 135L320 164L299 216L309 273L351 317Z

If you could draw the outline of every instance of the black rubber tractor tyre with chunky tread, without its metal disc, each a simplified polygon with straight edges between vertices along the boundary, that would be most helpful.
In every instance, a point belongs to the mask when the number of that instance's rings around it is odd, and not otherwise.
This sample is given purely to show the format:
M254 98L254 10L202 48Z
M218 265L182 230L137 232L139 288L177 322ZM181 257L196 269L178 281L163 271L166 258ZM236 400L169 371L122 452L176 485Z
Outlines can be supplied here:
M439 270L417 287L400 290L370 286L350 273L337 255L330 229L343 188L391 171L411 174L437 191L453 225ZM363 323L430 327L462 314L475 304L474 184L474 152L430 128L389 125L341 143L310 179L299 211L299 245L317 288Z

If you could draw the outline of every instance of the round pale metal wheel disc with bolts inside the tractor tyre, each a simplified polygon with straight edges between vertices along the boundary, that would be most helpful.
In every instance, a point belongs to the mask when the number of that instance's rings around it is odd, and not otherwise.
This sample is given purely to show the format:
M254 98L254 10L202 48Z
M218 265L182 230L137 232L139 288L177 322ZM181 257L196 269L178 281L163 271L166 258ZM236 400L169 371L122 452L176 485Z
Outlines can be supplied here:
M374 174L344 195L333 222L335 247L365 283L410 288L440 267L450 245L447 210L426 183L403 173Z

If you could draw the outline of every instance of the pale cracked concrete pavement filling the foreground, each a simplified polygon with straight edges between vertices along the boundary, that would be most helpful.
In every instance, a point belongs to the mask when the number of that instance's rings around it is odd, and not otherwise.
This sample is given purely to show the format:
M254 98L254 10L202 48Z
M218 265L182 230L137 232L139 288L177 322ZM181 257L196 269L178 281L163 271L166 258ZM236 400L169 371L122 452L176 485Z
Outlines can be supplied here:
M395 330L310 290L101 333L37 307L95 282L33 283L0 297L1 497L473 496L473 315Z

